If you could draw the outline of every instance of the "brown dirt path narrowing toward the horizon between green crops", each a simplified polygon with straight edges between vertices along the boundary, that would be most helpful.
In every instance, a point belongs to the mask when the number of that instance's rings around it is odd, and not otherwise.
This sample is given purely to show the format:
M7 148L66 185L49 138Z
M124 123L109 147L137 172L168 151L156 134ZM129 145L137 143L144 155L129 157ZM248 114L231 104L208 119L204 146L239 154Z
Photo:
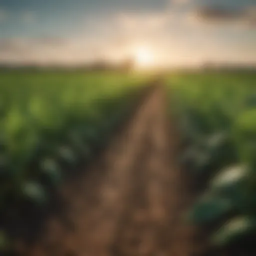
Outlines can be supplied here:
M165 102L163 87L149 93L102 159L63 187L63 217L52 216L25 255L201 255L182 221L192 194Z

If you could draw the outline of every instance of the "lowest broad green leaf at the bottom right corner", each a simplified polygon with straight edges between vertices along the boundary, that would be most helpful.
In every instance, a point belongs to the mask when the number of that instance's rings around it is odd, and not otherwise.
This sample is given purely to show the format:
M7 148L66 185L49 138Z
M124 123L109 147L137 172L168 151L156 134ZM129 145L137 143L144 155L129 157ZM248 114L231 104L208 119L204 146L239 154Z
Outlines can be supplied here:
M240 216L230 219L212 235L214 245L225 246L245 238L256 232L256 219L249 216Z

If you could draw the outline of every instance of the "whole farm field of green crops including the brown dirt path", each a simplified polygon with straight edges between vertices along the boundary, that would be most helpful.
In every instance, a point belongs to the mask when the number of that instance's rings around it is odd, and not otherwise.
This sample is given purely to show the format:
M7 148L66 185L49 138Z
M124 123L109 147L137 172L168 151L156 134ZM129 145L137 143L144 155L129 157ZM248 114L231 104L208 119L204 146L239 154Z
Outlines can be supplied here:
M138 73L0 77L0 211L11 216L0 222L3 247L28 256L254 255L255 74L181 72L154 84ZM28 218L56 191L60 208L35 236ZM32 210L15 225L24 205Z

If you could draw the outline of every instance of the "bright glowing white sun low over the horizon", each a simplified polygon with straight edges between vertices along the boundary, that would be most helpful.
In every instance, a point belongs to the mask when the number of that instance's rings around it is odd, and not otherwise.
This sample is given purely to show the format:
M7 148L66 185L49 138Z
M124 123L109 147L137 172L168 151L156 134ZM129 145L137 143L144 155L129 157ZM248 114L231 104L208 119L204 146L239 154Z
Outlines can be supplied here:
M135 64L139 68L150 67L154 64L154 55L152 51L145 47L140 46L134 50Z

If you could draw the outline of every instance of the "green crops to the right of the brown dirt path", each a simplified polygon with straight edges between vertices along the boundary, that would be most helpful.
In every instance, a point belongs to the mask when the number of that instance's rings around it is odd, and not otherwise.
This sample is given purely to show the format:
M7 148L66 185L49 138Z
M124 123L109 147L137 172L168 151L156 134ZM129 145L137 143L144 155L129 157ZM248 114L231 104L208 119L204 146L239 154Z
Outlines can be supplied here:
M180 157L201 194L188 218L229 246L256 234L256 74L173 74ZM173 110L174 109L174 110Z

